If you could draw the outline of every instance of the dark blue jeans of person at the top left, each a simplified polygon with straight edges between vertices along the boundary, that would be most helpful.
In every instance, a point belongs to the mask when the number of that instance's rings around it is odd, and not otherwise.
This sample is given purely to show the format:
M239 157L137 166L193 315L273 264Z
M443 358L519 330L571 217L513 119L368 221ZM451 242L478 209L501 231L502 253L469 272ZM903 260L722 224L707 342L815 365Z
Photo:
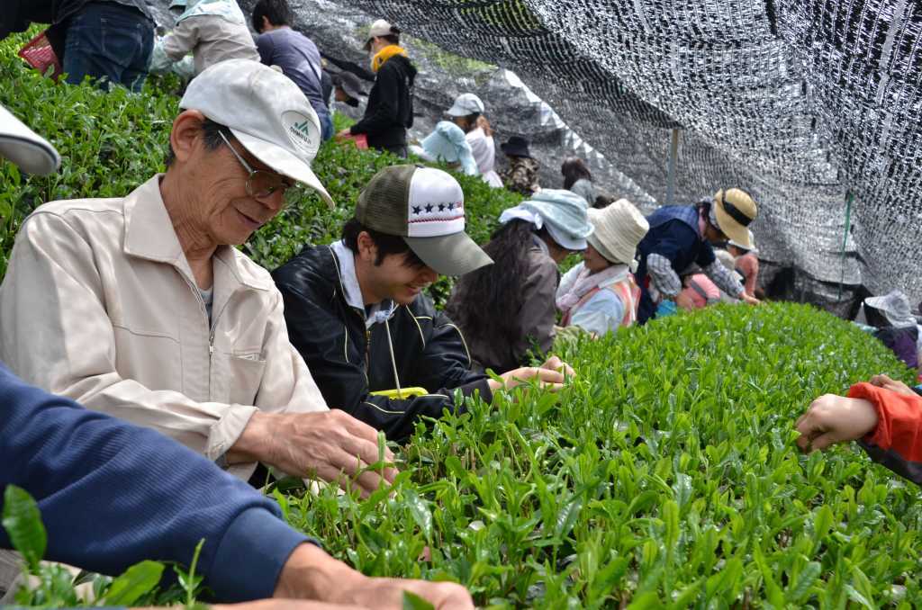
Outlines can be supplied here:
M67 25L64 71L72 85L87 76L140 91L154 48L154 24L141 11L116 2L92 2Z

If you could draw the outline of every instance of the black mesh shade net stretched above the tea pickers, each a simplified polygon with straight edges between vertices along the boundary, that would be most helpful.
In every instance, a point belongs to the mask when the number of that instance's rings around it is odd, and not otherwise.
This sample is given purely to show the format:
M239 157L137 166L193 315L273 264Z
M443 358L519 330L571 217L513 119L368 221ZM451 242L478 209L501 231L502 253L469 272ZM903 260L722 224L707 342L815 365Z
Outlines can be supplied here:
M666 203L678 130L674 201L739 186L761 207L760 258L834 285L822 299L839 283L922 299L917 0L290 2L332 59L367 64L374 18L468 58L411 45L420 134L471 90L498 137L535 143L545 186L580 154L603 190L648 210Z

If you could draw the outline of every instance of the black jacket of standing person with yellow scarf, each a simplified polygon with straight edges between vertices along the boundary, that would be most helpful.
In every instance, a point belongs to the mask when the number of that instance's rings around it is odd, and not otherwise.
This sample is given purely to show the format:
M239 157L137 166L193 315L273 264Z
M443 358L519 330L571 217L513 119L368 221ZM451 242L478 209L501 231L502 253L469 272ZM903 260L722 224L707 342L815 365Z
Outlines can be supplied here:
M391 57L374 79L365 115L349 131L368 136L372 148L407 144L407 130L413 126L413 80L416 67L403 55Z

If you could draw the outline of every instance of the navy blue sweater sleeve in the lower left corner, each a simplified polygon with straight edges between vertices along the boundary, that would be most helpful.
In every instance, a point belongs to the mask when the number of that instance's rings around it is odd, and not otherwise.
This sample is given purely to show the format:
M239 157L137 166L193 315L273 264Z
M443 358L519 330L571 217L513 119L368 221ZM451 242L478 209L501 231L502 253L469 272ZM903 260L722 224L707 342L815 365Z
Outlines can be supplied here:
M48 530L47 559L118 574L143 559L188 566L221 601L270 597L308 541L278 505L148 428L19 381L0 364L0 490L26 489ZM3 498L0 494L0 509ZM9 547L0 528L0 547Z

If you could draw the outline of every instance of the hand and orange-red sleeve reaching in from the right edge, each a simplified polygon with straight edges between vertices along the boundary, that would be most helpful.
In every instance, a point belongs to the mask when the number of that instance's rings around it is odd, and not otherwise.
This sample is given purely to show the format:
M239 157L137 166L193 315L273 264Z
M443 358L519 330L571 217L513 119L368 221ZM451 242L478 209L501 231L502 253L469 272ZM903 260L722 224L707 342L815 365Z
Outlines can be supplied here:
M797 421L804 451L858 440L875 462L922 485L922 396L886 375L857 383L848 396L824 394Z

